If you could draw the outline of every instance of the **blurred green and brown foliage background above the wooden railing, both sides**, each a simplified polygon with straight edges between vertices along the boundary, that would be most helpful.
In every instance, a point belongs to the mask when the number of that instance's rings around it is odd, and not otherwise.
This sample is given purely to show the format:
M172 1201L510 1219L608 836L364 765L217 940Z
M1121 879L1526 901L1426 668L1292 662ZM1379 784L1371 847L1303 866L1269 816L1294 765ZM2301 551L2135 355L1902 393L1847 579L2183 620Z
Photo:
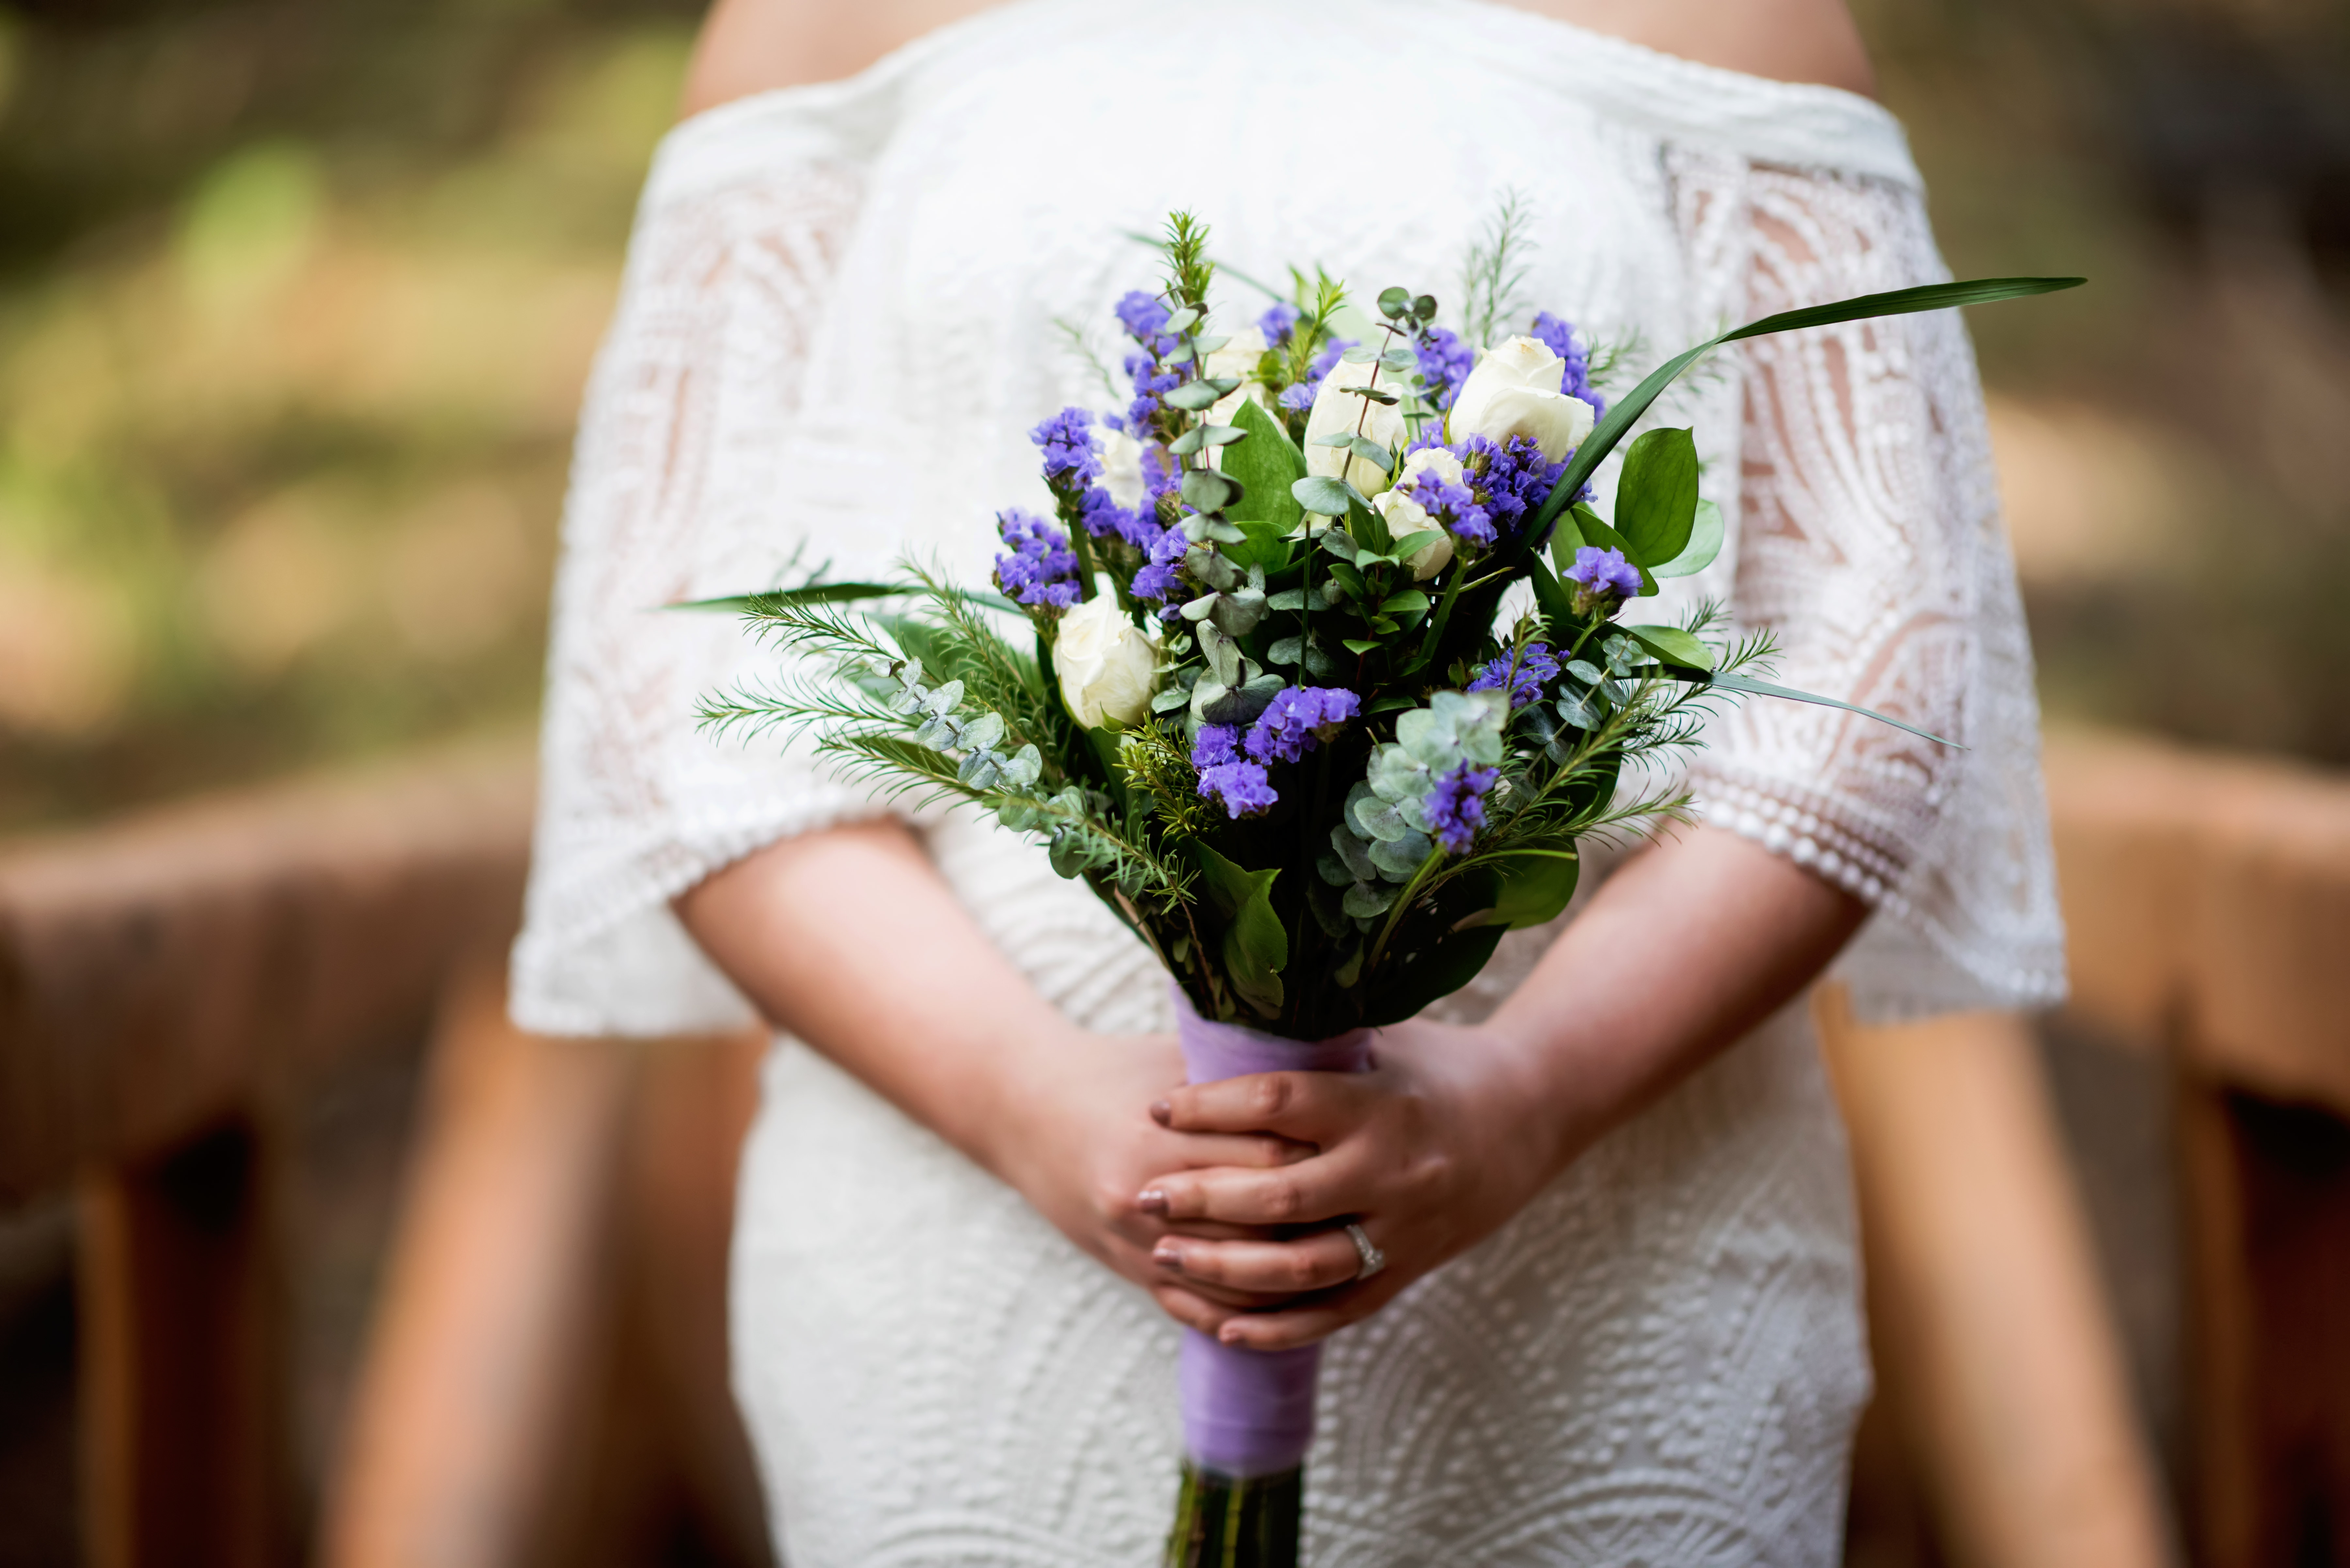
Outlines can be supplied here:
M524 729L700 7L0 5L0 830ZM2350 7L1866 0L2052 715L2350 762Z

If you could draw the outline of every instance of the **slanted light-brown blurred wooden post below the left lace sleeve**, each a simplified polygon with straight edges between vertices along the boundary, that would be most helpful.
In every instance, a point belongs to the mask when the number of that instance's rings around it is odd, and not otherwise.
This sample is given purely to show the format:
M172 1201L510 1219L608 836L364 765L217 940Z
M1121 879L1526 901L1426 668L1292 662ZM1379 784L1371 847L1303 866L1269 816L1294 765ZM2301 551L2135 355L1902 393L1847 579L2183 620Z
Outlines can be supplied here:
M461 983L322 1523L329 1568L529 1561L592 1401L634 1051Z

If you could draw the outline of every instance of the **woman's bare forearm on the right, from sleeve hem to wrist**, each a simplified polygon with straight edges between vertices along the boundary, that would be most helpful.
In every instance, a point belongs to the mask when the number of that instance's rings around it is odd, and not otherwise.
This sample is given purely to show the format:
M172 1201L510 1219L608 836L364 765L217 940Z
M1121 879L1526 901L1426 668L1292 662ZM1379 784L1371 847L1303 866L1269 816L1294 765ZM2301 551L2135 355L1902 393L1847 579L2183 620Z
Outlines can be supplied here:
M1624 865L1490 1027L1556 1114L1563 1168L1683 1074L1802 992L1868 907L1720 827Z

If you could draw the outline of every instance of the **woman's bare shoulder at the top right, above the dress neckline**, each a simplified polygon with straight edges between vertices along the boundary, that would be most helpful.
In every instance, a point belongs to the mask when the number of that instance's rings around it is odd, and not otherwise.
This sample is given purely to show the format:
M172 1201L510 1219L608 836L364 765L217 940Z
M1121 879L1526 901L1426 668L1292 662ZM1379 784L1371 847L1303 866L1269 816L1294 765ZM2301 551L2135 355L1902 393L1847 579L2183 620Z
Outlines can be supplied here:
M1779 82L1875 96L1878 78L1845 0L1502 0L1593 33Z

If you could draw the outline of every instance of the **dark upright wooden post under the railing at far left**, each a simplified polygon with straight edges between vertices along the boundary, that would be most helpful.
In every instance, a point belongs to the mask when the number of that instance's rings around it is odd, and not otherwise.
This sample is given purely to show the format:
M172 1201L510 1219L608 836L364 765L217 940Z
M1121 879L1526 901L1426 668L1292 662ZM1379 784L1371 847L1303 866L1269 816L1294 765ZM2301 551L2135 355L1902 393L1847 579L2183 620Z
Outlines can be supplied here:
M82 1535L96 1568L294 1561L277 1152L247 1124L82 1178Z

